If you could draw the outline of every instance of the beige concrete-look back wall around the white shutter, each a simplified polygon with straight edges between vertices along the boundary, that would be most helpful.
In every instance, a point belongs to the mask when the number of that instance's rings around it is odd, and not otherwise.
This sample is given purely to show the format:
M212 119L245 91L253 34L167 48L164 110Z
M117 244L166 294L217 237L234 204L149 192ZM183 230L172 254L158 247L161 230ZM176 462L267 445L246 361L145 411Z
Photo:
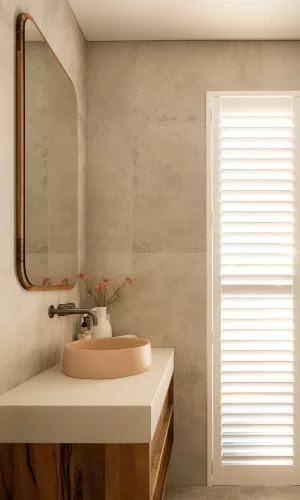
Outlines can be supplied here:
M299 90L300 42L88 43L88 273L116 332L176 349L173 484L206 482L205 91Z

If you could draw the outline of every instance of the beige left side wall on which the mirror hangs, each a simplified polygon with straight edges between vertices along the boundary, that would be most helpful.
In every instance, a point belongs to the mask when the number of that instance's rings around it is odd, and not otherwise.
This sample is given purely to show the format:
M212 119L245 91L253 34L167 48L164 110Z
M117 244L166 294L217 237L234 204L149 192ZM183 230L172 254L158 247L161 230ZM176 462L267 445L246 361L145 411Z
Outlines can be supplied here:
M73 333L72 318L50 320L50 304L78 301L78 291L26 292L15 274L15 19L29 12L69 73L78 98L79 248L85 262L85 51L66 0L0 2L0 393L58 361Z

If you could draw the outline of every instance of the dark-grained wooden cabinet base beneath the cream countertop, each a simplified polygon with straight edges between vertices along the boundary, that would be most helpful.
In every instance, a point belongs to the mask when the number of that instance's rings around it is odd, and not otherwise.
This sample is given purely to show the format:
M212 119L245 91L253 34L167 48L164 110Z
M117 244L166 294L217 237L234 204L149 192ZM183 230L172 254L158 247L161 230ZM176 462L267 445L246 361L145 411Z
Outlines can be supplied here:
M0 499L162 500L173 410L172 379L151 443L0 444Z

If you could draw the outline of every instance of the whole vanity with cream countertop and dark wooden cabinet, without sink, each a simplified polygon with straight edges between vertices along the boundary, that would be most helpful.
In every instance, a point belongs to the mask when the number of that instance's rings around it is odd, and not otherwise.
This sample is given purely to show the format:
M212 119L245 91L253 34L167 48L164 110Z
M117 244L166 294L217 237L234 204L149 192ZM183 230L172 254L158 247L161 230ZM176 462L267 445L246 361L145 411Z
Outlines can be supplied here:
M161 500L173 442L173 349L140 375L57 365L0 396L1 500Z

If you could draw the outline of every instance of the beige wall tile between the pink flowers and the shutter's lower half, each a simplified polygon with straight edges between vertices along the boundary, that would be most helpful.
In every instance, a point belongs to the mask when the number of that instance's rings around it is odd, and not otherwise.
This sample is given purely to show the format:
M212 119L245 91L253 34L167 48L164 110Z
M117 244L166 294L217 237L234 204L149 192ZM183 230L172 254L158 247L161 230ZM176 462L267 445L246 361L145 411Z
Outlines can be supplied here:
M175 348L178 383L205 381L205 255L134 254L133 280L133 333Z

